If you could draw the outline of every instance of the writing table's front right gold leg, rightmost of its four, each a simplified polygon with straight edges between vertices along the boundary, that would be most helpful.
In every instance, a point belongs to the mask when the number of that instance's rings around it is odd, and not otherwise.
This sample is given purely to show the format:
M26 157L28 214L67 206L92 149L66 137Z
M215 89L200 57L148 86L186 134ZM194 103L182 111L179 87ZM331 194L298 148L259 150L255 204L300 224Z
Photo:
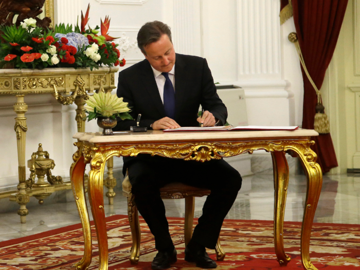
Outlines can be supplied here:
M295 151L299 154L308 178L304 217L302 219L301 227L301 262L304 269L317 270L310 261L309 248L311 227L313 225L315 210L319 201L322 186L322 171L320 166L316 163L317 156L310 147L303 151Z

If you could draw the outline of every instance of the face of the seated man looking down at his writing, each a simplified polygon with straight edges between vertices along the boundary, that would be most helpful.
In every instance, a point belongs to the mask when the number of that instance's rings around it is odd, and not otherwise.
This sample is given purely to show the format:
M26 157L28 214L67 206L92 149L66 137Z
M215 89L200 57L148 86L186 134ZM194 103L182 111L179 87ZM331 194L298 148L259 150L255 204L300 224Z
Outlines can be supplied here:
M169 72L175 64L174 46L167 34L163 34L161 38L148 46L144 47L145 58L150 65L158 71Z

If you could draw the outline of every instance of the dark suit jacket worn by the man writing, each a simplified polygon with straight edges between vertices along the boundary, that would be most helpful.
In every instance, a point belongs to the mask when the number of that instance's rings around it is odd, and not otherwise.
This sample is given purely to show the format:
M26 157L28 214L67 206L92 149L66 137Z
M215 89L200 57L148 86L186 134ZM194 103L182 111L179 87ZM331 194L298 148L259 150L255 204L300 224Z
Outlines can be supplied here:
M200 104L205 111L211 112L220 120L220 125L226 123L226 107L217 94L211 71L204 58L176 53L174 88L174 120L181 127L199 126L196 119ZM117 96L123 97L124 102L129 102L128 106L132 110L130 114L134 119L141 114L142 127L151 129L150 124L166 117L153 70L146 59L119 73ZM113 130L130 130L132 125L136 125L136 120L118 120ZM131 160L143 156L145 155L125 157L124 169Z

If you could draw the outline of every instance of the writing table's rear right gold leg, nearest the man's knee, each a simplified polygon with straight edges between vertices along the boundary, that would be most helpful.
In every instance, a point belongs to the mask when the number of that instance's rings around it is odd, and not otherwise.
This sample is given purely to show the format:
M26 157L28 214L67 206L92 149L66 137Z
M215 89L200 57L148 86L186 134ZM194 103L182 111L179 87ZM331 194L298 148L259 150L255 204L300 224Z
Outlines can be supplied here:
M274 188L275 188L275 206L274 206L274 242L275 253L280 265L287 265L290 257L284 251L284 213L287 195L287 186L289 185L289 166L287 165L284 152L271 152L274 168Z

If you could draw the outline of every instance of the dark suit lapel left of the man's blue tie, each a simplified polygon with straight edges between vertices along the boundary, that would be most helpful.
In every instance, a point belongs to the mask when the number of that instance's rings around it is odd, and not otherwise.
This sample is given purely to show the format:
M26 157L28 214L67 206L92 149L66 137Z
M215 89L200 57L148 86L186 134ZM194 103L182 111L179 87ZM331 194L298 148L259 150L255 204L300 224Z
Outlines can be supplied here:
M148 60L144 60L144 65L142 68L142 76L143 76L143 85L147 89L152 102L154 103L156 109L159 111L162 117L165 117L165 110L163 101L161 101L161 97L159 94L159 89L157 89L157 84L155 81L153 70L150 66Z

